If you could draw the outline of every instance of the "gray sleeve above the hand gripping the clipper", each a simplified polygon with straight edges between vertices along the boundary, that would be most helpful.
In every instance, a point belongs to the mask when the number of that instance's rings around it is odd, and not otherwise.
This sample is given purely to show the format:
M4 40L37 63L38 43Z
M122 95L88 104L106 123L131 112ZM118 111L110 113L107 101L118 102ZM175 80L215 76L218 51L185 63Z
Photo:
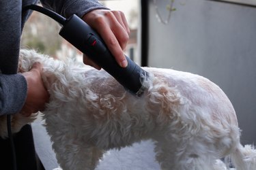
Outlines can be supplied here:
M68 18L72 14L76 14L80 18L91 10L106 9L101 3L96 0L41 0L44 7L61 14Z

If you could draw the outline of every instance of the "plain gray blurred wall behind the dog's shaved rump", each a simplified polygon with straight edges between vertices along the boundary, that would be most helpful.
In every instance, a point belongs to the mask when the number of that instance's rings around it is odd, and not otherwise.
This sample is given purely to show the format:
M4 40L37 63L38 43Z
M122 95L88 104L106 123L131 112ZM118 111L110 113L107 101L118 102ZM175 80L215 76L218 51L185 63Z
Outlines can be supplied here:
M218 84L236 109L242 143L256 142L255 4L208 0L148 3L147 65L197 73Z

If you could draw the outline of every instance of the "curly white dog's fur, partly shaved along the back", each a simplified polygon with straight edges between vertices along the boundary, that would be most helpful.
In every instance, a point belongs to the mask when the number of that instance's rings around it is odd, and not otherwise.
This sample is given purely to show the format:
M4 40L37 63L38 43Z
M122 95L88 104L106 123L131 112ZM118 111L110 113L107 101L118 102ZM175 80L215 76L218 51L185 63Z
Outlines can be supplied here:
M256 151L240 144L231 102L206 78L144 67L150 77L136 97L104 70L21 50L21 72L35 62L51 95L42 114L63 169L94 169L104 151L144 139L155 142L162 169L222 169L216 160L229 155L236 169L256 169Z

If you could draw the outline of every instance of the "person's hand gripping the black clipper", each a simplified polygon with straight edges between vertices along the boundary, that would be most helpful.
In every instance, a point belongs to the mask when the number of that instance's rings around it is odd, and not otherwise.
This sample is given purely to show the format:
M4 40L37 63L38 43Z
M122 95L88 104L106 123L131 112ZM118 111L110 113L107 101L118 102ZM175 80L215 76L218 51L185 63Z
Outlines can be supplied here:
M126 67L127 61L123 50L129 40L130 29L124 13L113 10L93 10L85 14L83 20L100 34L117 63L121 67ZM85 55L83 63L100 69Z

